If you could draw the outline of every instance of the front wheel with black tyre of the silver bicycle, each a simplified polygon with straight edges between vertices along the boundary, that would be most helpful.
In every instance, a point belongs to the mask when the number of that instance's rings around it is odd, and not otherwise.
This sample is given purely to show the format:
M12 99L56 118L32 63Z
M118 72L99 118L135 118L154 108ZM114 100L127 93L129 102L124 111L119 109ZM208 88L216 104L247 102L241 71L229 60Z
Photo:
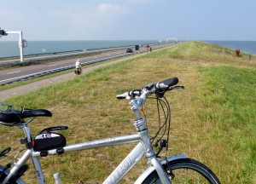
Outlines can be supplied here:
M218 177L207 168L205 164L201 164L195 159L181 158L169 162L174 178L172 183L220 183ZM163 165L164 169L167 170L167 165ZM152 172L143 181L143 184L161 183L160 178L156 171Z

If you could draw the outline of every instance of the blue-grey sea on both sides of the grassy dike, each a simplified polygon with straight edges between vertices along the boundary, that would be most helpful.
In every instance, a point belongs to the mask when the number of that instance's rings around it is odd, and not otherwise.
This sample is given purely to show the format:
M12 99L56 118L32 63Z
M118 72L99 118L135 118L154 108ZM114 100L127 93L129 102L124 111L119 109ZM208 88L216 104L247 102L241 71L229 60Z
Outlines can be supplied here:
M95 41L27 41L27 47L23 49L24 55L47 55L62 52L89 51L91 49L108 49L117 47L134 47L159 43L160 40L95 40ZM256 41L203 41L218 44L231 49L240 49L256 55ZM18 41L0 41L0 58L19 57L20 49Z

